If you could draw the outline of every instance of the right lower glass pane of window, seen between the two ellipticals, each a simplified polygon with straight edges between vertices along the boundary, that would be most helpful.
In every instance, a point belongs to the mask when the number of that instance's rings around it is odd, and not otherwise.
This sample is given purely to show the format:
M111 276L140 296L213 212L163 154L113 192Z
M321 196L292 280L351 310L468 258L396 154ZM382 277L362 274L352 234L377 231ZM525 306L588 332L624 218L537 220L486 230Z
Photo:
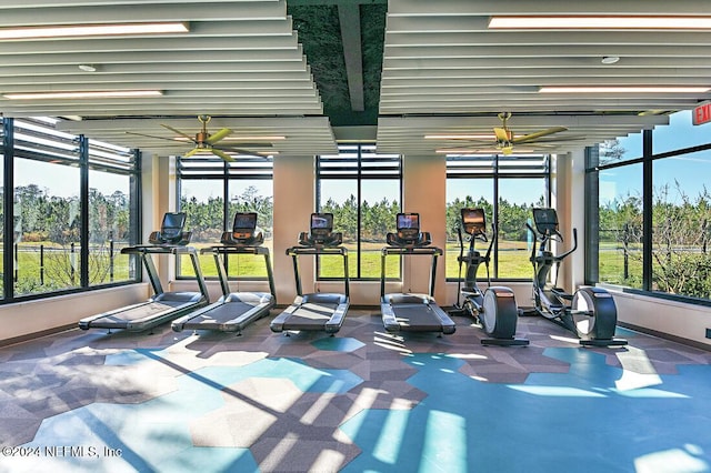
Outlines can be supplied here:
M525 223L531 218L531 209L545 205L545 178L499 180L497 278L531 278L532 242Z

